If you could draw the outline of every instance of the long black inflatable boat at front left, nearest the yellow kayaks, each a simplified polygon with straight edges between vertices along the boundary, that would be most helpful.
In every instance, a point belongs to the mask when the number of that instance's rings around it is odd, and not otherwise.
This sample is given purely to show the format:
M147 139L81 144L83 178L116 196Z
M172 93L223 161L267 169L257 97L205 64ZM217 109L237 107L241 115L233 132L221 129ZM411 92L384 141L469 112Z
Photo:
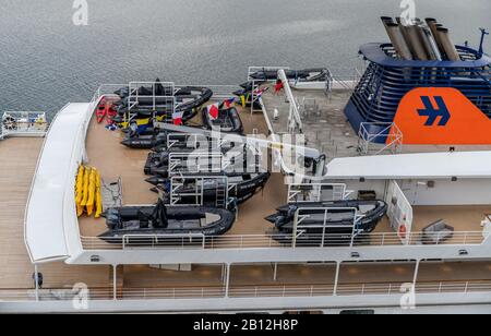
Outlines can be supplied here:
M233 225L233 212L202 206L166 206L159 201L155 206L128 206L108 209L106 217L109 230L99 236L110 243L155 243L155 237L145 235L204 235L220 236ZM140 237L128 237L139 235ZM127 237L125 237L127 236ZM166 238L161 238L166 241Z

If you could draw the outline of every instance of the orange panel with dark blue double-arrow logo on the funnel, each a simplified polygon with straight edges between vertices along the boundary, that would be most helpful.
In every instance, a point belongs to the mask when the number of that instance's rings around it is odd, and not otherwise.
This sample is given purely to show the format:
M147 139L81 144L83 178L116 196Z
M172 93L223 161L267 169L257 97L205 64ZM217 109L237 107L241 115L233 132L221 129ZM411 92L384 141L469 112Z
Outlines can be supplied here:
M491 144L491 120L456 88L412 89L400 101L394 122L408 145Z

